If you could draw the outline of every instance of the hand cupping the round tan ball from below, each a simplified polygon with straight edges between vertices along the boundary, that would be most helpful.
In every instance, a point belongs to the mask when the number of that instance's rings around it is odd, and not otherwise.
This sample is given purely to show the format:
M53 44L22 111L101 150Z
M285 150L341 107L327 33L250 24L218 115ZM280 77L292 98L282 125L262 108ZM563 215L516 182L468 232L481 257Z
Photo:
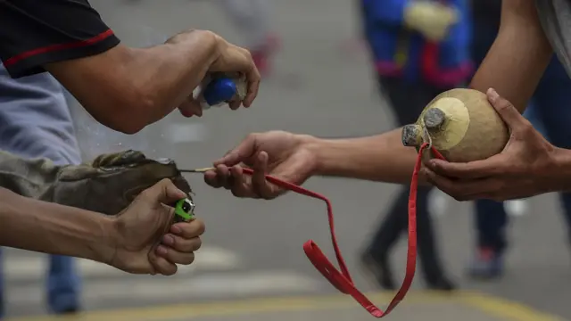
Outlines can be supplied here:
M551 145L506 99L489 89L488 100L510 129L504 150L484 161L455 163L431 160L427 179L458 201L506 201L555 191L562 180L561 149Z

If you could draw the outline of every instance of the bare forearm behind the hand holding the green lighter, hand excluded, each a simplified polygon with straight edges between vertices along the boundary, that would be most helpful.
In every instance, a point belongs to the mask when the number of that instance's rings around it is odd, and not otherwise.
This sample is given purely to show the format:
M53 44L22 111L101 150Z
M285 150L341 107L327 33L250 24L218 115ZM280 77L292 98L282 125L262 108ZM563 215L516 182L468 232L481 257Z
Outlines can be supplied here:
M110 217L21 197L0 188L0 245L109 262L114 254Z

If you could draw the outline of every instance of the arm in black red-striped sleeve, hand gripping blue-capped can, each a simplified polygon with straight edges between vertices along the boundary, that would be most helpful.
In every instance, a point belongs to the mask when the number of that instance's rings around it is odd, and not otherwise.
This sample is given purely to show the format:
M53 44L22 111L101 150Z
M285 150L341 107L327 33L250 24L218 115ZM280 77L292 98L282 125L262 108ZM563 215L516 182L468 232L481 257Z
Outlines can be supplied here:
M246 107L257 94L260 76L250 53L210 31L189 30L162 45L130 48L86 0L6 0L0 2L0 26L0 58L12 77L47 70L95 119L124 133L176 108L200 115L192 92L207 72L243 73Z

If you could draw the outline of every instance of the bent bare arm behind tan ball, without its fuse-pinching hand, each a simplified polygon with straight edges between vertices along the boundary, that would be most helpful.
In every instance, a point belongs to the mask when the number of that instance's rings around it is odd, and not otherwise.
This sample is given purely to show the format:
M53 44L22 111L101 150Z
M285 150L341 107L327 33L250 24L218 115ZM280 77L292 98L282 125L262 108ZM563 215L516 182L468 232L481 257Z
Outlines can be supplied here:
M533 0L504 0L501 28L470 87L493 87L523 112L534 94L552 50L538 20ZM375 147L373 147L375 146ZM318 173L383 182L410 181L416 151L401 144L401 129L382 135L319 140Z

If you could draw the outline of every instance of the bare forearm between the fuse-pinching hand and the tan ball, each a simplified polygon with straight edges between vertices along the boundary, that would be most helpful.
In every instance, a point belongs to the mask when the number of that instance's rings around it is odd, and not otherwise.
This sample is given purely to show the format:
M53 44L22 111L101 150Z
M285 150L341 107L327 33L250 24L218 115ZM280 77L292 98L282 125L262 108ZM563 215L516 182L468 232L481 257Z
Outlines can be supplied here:
M312 138L308 145L316 155L316 174L322 176L407 184L417 157L416 149L401 143L401 128L361 138Z

